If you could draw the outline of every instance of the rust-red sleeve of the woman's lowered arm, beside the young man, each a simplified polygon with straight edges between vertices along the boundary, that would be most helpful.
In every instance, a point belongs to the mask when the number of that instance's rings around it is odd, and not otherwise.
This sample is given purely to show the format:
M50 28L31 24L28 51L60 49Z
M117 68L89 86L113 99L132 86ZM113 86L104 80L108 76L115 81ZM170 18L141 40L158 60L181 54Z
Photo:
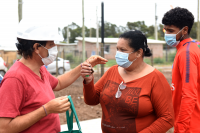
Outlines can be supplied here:
M140 133L165 133L174 124L171 88L166 78L157 72L152 85L151 102L157 119Z

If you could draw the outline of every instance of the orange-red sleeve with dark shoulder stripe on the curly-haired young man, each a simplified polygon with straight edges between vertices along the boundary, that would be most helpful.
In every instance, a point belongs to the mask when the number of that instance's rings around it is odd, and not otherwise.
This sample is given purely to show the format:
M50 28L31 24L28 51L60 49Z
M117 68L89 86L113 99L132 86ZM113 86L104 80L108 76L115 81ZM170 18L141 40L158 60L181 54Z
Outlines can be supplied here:
M178 114L178 119L174 126L175 132L185 133L190 126L191 115L197 102L197 79L198 79L198 58L189 51L189 45L186 51L180 53L178 64L182 78L182 98Z

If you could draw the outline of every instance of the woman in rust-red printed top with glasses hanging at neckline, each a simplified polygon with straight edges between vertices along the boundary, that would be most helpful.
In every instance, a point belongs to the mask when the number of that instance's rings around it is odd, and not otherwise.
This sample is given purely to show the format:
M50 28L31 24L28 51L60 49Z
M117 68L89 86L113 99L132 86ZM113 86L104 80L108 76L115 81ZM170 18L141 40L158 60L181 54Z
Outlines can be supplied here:
M118 65L95 85L92 67L83 63L85 103L101 104L103 133L165 133L174 122L171 89L163 74L143 61L151 56L146 37L125 32L116 48Z

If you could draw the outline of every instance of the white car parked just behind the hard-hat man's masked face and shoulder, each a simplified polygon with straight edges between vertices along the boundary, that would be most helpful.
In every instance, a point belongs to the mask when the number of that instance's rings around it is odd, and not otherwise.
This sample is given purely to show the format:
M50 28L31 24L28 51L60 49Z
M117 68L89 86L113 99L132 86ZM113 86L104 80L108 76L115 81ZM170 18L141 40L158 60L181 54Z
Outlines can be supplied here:
M56 73L56 59L51 64L45 67L50 73ZM69 71L69 70L70 70L69 60L64 60L64 67L63 67L63 59L58 57L58 74L61 75L64 73L64 71Z

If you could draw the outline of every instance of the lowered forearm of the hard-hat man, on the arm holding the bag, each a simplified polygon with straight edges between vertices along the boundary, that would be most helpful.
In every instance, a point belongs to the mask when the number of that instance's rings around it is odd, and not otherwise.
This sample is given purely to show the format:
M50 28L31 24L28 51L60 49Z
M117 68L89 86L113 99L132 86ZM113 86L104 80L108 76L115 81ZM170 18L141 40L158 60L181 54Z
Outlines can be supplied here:
M22 116L17 116L14 119L1 118L0 132L2 131L2 133L18 133L24 131L45 116L46 114L44 108L40 107L33 112L30 112Z

